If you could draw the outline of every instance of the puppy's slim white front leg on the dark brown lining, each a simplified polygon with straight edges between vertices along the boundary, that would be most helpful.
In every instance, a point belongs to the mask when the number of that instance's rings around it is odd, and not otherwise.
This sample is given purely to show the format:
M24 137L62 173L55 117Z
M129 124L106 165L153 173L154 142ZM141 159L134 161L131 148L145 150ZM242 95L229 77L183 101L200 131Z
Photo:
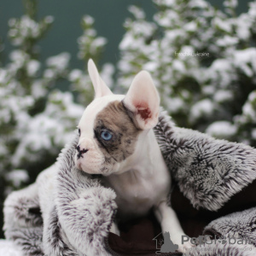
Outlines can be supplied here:
M185 234L177 219L176 212L174 212L171 206L168 206L166 201L160 201L154 207L154 214L160 222L162 232L169 232L171 241L178 246L178 251L185 253L189 251L189 248L193 247L189 241L182 242Z

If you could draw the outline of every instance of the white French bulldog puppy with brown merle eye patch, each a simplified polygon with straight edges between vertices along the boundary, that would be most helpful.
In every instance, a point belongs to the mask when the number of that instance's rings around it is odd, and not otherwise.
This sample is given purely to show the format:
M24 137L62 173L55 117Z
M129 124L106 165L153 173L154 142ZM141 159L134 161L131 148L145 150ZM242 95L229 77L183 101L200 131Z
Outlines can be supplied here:
M119 215L146 214L152 207L163 232L184 252L184 232L167 195L171 176L153 128L158 123L160 97L148 72L136 75L126 96L113 95L95 63L88 62L95 99L79 121L76 166L90 174L102 174L116 192ZM116 227L111 230L118 233Z

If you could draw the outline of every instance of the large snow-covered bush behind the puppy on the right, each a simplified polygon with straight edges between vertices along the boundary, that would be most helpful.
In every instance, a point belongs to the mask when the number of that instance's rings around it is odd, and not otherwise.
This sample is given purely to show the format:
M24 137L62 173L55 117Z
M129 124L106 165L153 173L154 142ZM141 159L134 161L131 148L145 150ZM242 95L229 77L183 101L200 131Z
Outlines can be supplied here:
M119 44L119 84L146 69L177 125L255 144L256 2L236 15L205 0L154 0L154 21L132 6ZM254 42L254 43L253 43Z

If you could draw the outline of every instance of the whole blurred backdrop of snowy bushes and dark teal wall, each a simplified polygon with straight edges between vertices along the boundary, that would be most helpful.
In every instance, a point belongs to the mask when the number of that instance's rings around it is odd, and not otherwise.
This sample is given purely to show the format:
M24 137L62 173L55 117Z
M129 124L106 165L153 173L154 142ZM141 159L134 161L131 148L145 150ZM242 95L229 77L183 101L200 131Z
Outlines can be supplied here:
M92 100L90 57L118 93L148 70L177 125L256 146L256 1L2 0L0 226Z

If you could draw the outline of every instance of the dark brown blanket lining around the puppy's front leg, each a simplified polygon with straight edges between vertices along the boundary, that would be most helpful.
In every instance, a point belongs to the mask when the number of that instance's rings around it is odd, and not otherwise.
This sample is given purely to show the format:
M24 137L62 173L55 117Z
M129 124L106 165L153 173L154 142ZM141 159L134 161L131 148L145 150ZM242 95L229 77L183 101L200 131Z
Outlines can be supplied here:
M233 195L218 212L196 210L177 187L172 191L172 207L177 212L185 234L190 237L202 235L204 227L213 219L255 206L256 180L238 194ZM153 212L145 218L137 218L120 224L119 229L120 236L111 233L108 238L109 246L114 252L120 255L156 255L157 250L153 239L160 234L161 230Z

